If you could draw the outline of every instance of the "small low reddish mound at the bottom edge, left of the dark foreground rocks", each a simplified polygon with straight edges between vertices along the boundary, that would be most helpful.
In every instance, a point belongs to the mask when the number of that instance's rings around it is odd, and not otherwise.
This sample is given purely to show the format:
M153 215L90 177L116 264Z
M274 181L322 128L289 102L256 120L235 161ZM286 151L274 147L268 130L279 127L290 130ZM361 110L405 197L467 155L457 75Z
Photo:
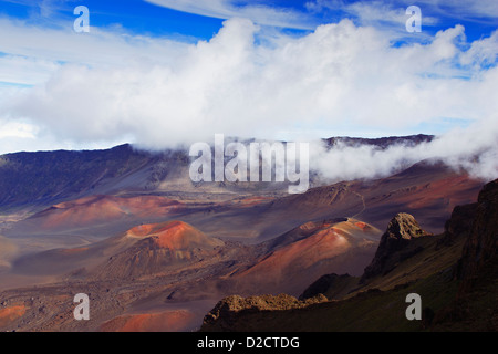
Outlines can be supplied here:
M193 325L196 316L187 310L124 315L107 321L102 332L180 332Z

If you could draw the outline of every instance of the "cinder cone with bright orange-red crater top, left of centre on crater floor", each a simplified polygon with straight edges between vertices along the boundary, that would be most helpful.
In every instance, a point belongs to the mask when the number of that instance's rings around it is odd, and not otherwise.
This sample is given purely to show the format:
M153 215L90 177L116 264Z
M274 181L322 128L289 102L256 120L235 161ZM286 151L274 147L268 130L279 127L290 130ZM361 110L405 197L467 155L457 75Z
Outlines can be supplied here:
M64 275L77 269L102 277L160 272L216 253L224 241L183 221L142 225L81 248L54 249L17 259L18 274ZM179 262L179 263L178 263Z

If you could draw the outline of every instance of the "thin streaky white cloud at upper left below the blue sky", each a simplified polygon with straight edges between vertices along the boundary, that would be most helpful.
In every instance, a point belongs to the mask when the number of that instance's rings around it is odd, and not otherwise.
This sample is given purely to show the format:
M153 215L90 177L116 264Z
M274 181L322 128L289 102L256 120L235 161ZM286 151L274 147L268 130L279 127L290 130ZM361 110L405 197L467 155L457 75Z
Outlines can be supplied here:
M7 54L0 56L0 81L39 84L46 82L63 63L116 67L147 58L170 63L185 48L181 42L132 35L118 29L92 28L91 33L76 33L71 21L61 22L58 28L0 18L0 31L9 33L0 37L0 51ZM12 77L4 80L6 76Z

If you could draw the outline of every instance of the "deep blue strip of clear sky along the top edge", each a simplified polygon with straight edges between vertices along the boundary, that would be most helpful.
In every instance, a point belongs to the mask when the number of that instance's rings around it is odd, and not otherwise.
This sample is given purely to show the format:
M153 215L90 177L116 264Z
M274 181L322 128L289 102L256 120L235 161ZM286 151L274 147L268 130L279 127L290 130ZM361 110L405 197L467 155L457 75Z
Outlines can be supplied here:
M164 2L164 6L160 6ZM174 10L168 3L179 3ZM124 29L147 35L181 35L186 40L212 38L222 27L227 15L220 13L218 18L203 15L201 10L190 9L181 6L188 1L143 1L143 0L70 0L70 1L29 1L29 0L1 0L0 14L15 19L27 20L29 23L41 25L60 25L61 21L74 21L73 9L83 4L91 10L91 24L93 27L121 25ZM195 2L195 1L194 1ZM294 30L297 34L313 30L318 24L338 22L341 19L350 18L356 23L362 23L362 13L352 11L354 4L371 4L382 11L382 7L390 10L404 10L411 4L419 6L423 17L437 19L437 23L426 24L424 31L436 33L442 29L461 24L466 28L466 35L469 41L474 41L485 35L489 35L497 28L497 11L489 12L487 7L468 6L473 1L298 1L298 0L273 0L273 1L197 1L199 8L209 2L220 2L229 4L234 11L240 11L245 15L243 9L259 6L263 9L276 9L280 12L295 14L299 20L289 21L288 30ZM478 1L475 1L478 2ZM491 3L491 1L483 1ZM322 4L324 3L324 4ZM314 6L311 6L314 4ZM227 6L228 7L228 6ZM498 7L498 4L496 6ZM221 7L220 7L221 8ZM206 11L208 12L208 11ZM212 10L217 12L217 8ZM221 11L218 11L221 12ZM367 10L365 10L367 12ZM407 19L408 17L404 17ZM404 20L402 19L402 20ZM252 17L258 21L258 15ZM390 19L385 21L388 22ZM375 22L373 22L375 23ZM376 23L385 24L381 20ZM282 27L286 28L286 27Z

